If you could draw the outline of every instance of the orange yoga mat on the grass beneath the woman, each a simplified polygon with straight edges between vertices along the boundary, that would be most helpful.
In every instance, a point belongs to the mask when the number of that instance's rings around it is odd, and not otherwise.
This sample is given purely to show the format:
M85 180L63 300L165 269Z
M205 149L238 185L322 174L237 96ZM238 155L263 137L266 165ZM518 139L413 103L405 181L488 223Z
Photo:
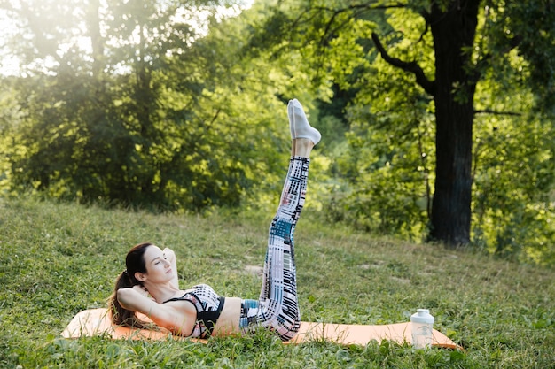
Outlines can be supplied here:
M141 317L147 321L145 317ZM66 338L78 338L82 336L91 336L107 334L114 339L176 339L182 340L185 337L176 336L163 328L156 330L137 329L129 327L120 327L113 325L110 315L105 308L90 309L79 312L74 319L67 325L62 332L62 336ZM363 326L352 324L332 324L332 323L309 323L301 322L301 330L295 336L291 343L309 342L312 340L327 340L340 344L360 344L366 345L372 340L381 342L389 340L399 342L410 342L410 323L386 324L379 326ZM206 340L199 340L206 341ZM455 342L451 341L445 334L434 329L433 346L462 349Z

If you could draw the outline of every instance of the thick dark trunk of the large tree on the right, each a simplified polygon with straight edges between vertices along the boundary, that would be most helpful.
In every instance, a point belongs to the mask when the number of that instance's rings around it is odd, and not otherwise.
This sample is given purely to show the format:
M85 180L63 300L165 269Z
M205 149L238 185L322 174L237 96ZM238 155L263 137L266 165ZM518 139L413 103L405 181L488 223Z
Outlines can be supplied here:
M429 24L435 50L436 167L432 239L449 246L470 242L473 96L470 74L478 0L454 0L441 11L434 3ZM468 51L465 51L468 50Z

